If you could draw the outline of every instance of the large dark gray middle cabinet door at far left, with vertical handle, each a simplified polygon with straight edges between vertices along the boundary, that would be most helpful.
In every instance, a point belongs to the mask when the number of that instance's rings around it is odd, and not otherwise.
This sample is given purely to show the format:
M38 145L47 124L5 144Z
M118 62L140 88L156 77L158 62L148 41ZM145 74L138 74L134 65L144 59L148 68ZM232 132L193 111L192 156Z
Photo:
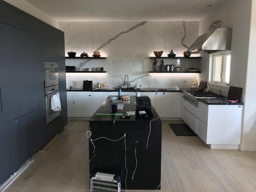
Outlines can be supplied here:
M0 23L0 88L2 121L35 109L31 33Z

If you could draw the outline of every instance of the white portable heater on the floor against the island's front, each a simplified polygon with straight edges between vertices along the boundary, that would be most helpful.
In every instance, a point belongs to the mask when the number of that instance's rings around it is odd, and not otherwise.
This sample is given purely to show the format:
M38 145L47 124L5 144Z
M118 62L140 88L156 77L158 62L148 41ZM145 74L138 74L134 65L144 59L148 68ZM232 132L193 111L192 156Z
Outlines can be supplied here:
M90 192L121 192L121 178L107 173L91 175Z

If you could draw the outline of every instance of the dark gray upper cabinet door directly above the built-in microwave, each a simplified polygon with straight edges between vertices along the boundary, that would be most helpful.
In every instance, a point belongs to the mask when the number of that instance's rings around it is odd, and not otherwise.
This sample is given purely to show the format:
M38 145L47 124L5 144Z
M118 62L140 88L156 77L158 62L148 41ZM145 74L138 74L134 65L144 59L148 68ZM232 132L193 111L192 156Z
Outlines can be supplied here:
M44 60L57 62L57 39L56 31L43 24L43 48Z

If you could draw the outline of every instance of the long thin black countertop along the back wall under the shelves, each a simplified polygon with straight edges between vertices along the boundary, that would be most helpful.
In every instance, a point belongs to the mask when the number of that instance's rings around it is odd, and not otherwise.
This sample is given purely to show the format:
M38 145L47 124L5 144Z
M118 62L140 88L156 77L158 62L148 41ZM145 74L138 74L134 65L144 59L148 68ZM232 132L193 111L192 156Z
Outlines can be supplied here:
M187 89L181 88L167 88L166 90L159 90L159 88L141 88L139 90L123 90L122 92L183 92ZM67 89L67 91L84 91L83 88L73 88L73 90ZM108 89L93 89L92 92L118 92L115 88L108 88Z

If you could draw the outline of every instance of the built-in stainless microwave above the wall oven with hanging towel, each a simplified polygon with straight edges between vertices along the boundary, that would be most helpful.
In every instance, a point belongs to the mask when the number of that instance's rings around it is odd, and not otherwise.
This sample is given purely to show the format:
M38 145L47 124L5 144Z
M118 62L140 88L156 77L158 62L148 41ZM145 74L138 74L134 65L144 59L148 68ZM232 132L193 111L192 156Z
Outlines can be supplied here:
M59 84L58 62L44 62L45 67L45 87Z

